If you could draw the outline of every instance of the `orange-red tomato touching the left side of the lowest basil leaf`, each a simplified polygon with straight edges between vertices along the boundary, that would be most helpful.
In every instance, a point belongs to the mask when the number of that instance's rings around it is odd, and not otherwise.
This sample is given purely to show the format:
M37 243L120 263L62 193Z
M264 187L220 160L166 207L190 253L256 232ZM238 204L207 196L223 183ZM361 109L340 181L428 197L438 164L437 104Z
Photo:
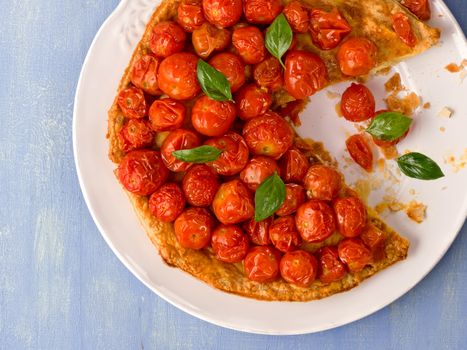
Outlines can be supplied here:
M237 224L255 215L253 196L240 180L224 182L214 197L212 210L223 224Z

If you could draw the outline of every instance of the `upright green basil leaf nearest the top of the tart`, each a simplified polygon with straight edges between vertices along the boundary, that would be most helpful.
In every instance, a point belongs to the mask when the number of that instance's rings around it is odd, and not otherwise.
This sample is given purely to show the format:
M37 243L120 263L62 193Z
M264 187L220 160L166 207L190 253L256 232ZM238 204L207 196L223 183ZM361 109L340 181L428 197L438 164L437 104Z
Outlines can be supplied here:
M290 44L292 44L292 37L292 28L290 28L290 24L283 13L276 17L266 31L266 48L271 55L279 60L284 68L282 56L287 52Z

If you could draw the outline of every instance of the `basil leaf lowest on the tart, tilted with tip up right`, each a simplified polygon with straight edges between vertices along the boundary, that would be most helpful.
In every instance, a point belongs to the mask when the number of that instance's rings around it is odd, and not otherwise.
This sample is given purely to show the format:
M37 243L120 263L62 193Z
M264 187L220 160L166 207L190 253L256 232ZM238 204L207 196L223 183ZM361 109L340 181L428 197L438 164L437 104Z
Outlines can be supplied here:
M259 222L273 215L285 201L285 185L274 172L256 189L255 221Z

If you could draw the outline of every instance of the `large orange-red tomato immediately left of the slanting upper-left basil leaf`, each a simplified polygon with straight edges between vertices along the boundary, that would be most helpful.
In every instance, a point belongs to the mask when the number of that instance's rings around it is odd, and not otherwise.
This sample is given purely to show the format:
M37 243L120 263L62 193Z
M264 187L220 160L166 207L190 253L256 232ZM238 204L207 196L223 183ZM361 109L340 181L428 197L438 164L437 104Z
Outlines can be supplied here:
M201 91L196 76L198 57L181 52L164 59L159 67L159 88L176 100L190 100Z

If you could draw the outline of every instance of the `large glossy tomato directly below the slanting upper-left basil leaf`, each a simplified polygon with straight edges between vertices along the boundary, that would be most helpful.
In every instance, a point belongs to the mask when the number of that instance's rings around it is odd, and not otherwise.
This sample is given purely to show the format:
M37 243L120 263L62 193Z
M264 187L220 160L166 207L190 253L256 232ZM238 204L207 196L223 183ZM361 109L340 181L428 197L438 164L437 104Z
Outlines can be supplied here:
M235 105L232 102L216 101L203 95L193 106L191 122L202 135L222 136L232 126L235 116Z

